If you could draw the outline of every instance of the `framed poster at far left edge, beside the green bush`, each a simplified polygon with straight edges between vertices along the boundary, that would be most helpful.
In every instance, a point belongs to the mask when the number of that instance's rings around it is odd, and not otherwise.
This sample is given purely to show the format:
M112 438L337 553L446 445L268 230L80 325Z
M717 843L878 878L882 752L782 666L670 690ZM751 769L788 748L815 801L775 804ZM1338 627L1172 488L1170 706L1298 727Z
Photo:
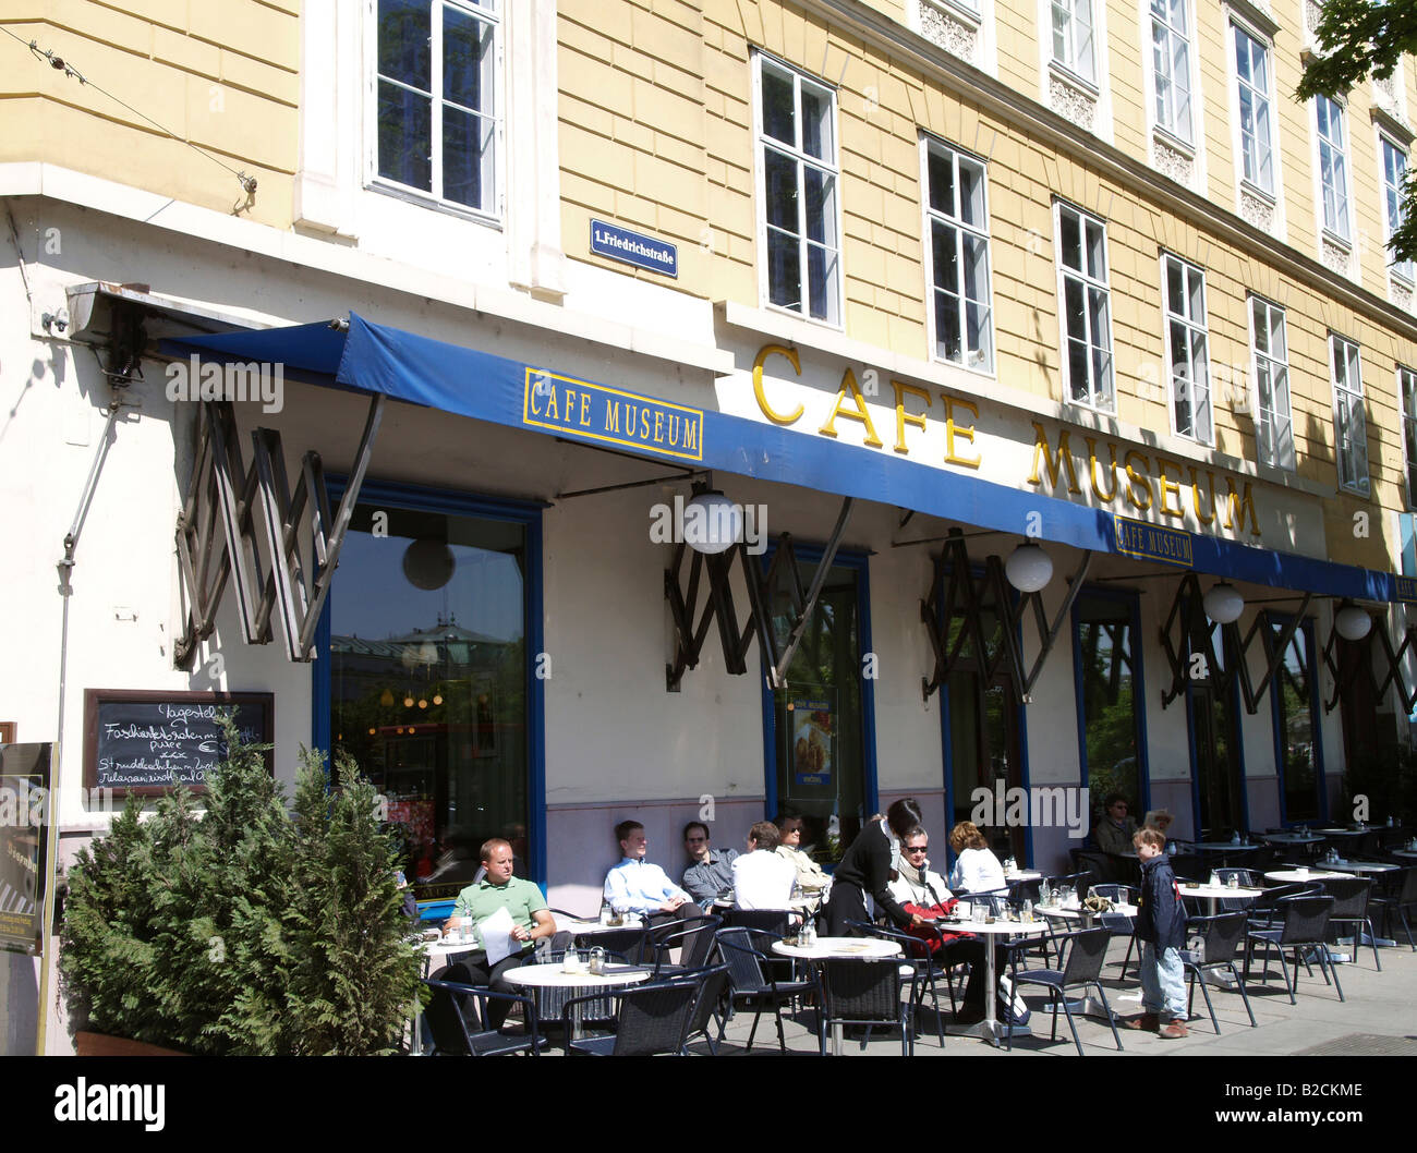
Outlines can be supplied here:
M54 746L0 745L0 949L38 956Z

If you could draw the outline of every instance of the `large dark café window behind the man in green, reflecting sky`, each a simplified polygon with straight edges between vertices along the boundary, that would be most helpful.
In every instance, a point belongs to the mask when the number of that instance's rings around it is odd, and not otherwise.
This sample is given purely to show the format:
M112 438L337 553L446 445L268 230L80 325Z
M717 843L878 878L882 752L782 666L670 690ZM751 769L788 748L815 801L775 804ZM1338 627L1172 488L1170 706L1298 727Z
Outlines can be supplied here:
M538 513L422 496L366 484L354 509L316 669L333 761L384 796L419 897L468 885L489 837L543 880Z

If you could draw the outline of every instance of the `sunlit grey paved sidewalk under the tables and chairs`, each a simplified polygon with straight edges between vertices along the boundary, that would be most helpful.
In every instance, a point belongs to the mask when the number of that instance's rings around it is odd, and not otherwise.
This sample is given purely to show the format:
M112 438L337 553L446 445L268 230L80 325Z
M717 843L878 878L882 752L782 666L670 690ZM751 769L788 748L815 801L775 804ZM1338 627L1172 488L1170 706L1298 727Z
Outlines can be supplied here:
M1118 1017L1129 1017L1141 1011L1141 982L1135 966L1128 969L1127 980L1118 980L1125 942L1114 942L1108 952L1102 986L1107 999ZM1196 990L1196 1016L1190 1020L1190 1035L1180 1041L1165 1041L1153 1034L1119 1030L1124 1052L1118 1054L1112 1031L1100 1017L1074 1018L1078 1037L1088 1057L1107 1055L1149 1055L1166 1054L1178 1057L1280 1057L1280 1055L1417 1055L1417 953L1406 942L1397 948L1380 950L1383 972L1373 966L1373 952L1366 946L1356 963L1338 966L1343 984L1345 1001L1339 1001L1332 986L1323 983L1318 966L1311 977L1299 967L1298 1004L1291 1006L1284 992L1284 977L1278 963L1271 959L1268 983L1260 982L1258 962L1250 975L1247 990L1254 1010L1257 1028L1250 1027L1244 1004L1238 993L1210 989L1210 1000L1220 1021L1217 1037L1206 1013L1200 990ZM1292 970L1291 970L1292 972ZM962 984L956 983L962 990ZM944 986L941 1000L948 1010ZM996 1050L975 1035L962 1035L962 1027L948 1017L945 1023L945 1044L941 1050L935 1033L934 1014L927 1007L920 1014L915 1055L917 1057L1077 1057L1077 1047L1068 1033L1067 1021L1058 1014L1058 1034L1049 1040L1051 1011L1043 1009L1047 994L1029 994L1034 1010L1030 1026L1033 1035L1015 1041L1013 1052ZM738 1011L728 1026L723 1055L744 1055L752 1014ZM784 1018L788 1051L795 1055L815 1055L818 1051L815 1014L808 1010L799 1021ZM697 1051L706 1051L701 1045ZM772 1014L765 1013L754 1038L752 1052L747 1055L778 1055L777 1028ZM900 1034L876 1030L863 1050L859 1040L849 1038L843 1055L900 1055Z

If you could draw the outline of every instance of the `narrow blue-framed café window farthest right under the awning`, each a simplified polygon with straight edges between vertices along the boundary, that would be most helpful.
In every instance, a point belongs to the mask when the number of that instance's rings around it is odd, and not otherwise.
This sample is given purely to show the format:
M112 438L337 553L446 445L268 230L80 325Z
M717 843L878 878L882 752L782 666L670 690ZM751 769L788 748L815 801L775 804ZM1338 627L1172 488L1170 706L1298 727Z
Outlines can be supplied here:
M1280 642L1287 620L1265 613L1265 625ZM1322 820L1323 742L1319 739L1318 683L1314 676L1314 622L1294 630L1271 686L1274 708L1274 758L1280 769L1280 796L1285 824Z

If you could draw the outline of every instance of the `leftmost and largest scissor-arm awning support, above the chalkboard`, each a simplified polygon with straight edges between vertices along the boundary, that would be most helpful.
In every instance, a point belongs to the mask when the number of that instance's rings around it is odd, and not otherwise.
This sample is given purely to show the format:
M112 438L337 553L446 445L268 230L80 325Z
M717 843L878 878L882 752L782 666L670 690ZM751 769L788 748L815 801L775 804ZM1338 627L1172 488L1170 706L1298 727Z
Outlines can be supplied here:
M235 589L237 618L247 644L271 642L275 613L286 656L295 663L315 659L315 630L368 473L385 404L383 394L370 398L349 486L332 516L319 453L305 453L292 490L281 433L252 429L252 460L247 467L234 402L203 401L197 459L177 514L184 616L181 636L173 646L176 667L191 669L197 646L215 629L228 584ZM313 543L309 571L302 561L302 540Z

